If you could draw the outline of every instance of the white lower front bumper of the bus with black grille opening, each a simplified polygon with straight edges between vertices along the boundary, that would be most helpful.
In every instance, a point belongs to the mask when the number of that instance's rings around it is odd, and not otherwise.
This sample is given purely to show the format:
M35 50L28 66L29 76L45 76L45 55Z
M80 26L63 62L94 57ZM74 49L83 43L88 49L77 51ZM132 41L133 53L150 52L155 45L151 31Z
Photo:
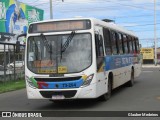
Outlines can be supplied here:
M27 87L29 99L85 99L97 98L96 84L74 89L33 89Z

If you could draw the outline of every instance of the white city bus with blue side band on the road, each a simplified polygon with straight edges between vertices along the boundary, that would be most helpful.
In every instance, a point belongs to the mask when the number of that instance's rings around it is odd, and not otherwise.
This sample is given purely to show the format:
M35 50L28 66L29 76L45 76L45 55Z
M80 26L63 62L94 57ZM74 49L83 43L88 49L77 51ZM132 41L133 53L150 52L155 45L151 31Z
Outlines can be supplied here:
M138 37L112 22L72 18L35 22L26 37L29 99L108 100L141 73Z

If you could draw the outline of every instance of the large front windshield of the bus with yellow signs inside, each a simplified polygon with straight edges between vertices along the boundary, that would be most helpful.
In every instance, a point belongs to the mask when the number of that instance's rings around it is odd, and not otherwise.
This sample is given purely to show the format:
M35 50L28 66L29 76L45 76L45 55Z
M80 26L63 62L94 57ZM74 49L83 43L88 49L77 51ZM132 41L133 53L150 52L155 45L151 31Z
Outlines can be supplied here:
M27 46L27 67L37 74L81 72L92 62L89 33L32 36Z

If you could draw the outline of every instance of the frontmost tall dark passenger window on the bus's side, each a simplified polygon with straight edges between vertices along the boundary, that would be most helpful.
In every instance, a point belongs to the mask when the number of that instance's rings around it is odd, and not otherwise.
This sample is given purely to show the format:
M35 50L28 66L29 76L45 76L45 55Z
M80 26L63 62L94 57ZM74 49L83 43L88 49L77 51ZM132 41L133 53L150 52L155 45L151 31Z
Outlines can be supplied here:
M106 55L111 55L112 54L112 44L111 44L109 29L103 28L103 35L104 35L104 45L105 45Z

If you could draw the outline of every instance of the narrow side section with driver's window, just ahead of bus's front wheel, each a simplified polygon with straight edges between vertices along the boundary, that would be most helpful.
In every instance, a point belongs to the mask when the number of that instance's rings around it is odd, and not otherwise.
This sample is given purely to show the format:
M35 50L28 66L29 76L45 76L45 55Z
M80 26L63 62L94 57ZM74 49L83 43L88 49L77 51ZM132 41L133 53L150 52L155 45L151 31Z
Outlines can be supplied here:
M103 94L106 91L106 75L105 75L105 58L104 58L104 42L102 29L95 33L96 46L96 63L97 63L97 94Z

